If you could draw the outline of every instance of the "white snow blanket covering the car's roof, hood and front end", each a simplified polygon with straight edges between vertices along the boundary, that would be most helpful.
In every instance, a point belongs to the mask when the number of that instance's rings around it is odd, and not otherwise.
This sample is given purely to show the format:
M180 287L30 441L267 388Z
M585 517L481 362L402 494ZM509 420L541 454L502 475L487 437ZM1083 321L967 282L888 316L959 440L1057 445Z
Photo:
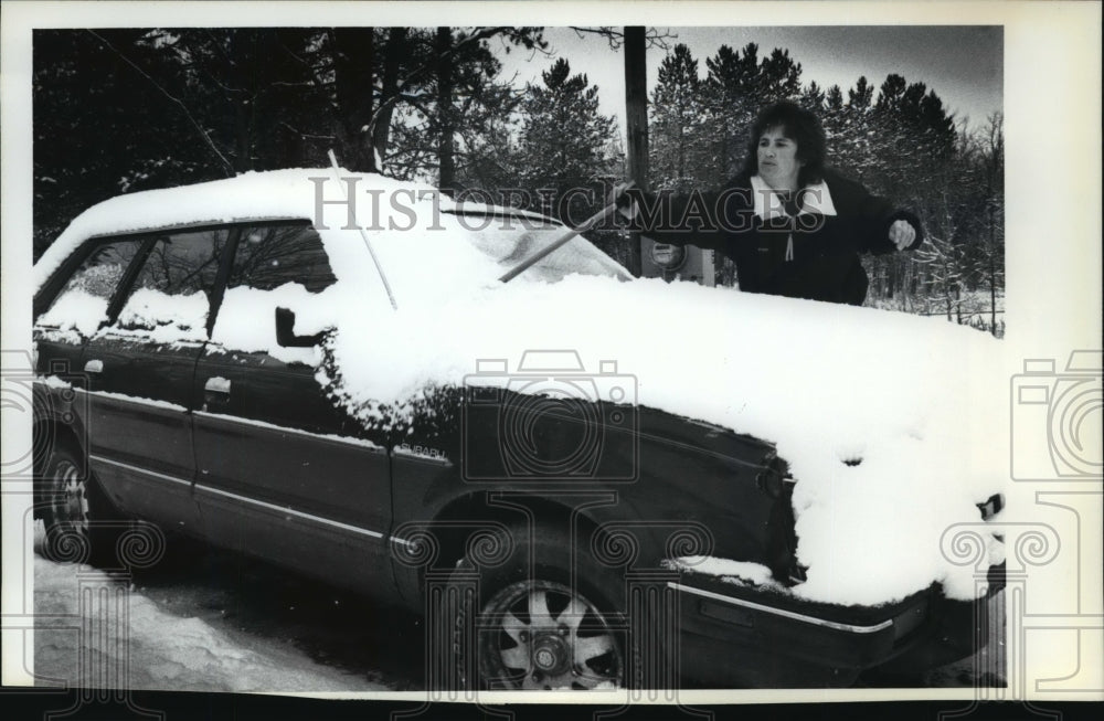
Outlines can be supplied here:
M314 218L311 177L330 178L326 199L340 199L331 171L287 170L100 203L43 255L35 279L89 235L137 230L134 219L158 227ZM635 377L639 404L777 444L797 479L797 555L808 566L793 593L872 604L933 581L953 597L978 593L975 569L945 559L941 537L977 522L975 503L1005 478L977 453L977 428L1007 407L992 381L998 341L941 319L659 279L545 283L527 272L503 285L510 262L499 261L509 253L489 252L491 235L440 215L450 201L418 201L435 193L428 187L359 178L359 189L399 194L413 209L358 202L397 310L361 234L341 230L346 208L333 204L320 235L338 283L321 294L295 284L250 291L258 297L248 303L268 318L277 305L291 308L300 335L332 328L327 352L339 372L323 371L316 349L276 346L255 312L220 314L214 340L317 365L320 384L365 423L380 422L381 406L412 413L427 388L463 385L480 359L505 359L511 371L529 350L576 351L591 372L616 361L617 373ZM580 238L556 252L571 254L590 257L593 247Z

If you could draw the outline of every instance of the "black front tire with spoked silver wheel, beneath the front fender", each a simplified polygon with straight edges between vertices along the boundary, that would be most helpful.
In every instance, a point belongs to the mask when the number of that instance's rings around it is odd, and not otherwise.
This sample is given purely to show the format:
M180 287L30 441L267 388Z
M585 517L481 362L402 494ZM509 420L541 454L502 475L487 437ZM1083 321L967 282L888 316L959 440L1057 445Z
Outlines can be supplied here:
M571 543L562 534L541 528L532 538L524 528L509 534L513 550L503 563L480 564L469 548L442 594L450 600L439 607L437 625L446 635L446 685L468 690L627 686L625 615L608 601L622 593L620 574L596 563L588 545L576 544L573 584Z

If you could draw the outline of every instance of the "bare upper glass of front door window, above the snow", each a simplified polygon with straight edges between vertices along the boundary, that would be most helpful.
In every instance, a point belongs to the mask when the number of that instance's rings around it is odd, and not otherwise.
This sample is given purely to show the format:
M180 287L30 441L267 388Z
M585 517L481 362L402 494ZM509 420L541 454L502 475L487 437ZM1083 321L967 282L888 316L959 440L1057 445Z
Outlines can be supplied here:
M306 223L243 227L226 287L273 290L287 283L298 283L310 293L337 283L318 232Z

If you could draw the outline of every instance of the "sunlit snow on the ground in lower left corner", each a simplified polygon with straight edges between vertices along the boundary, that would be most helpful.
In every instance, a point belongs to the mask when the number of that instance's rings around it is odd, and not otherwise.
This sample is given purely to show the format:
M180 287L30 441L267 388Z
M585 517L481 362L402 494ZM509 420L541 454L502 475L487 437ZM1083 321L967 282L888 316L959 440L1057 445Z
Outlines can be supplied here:
M161 611L146 596L125 590L123 583L88 565L63 565L34 556L39 615L34 664L40 678L147 690L388 690L320 666L274 642L246 646L200 618ZM99 593L86 593L82 601L79 589ZM97 603L104 606L97 608ZM114 607L115 603L125 604L126 612ZM121 672L126 678L116 676Z

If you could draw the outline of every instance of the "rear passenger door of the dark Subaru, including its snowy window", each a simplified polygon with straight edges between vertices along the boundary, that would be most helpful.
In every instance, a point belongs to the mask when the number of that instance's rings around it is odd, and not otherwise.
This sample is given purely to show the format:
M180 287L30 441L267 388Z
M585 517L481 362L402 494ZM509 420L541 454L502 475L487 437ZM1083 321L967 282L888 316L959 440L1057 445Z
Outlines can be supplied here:
M229 235L203 227L144 237L82 356L92 468L119 507L166 528L198 528L192 380Z

